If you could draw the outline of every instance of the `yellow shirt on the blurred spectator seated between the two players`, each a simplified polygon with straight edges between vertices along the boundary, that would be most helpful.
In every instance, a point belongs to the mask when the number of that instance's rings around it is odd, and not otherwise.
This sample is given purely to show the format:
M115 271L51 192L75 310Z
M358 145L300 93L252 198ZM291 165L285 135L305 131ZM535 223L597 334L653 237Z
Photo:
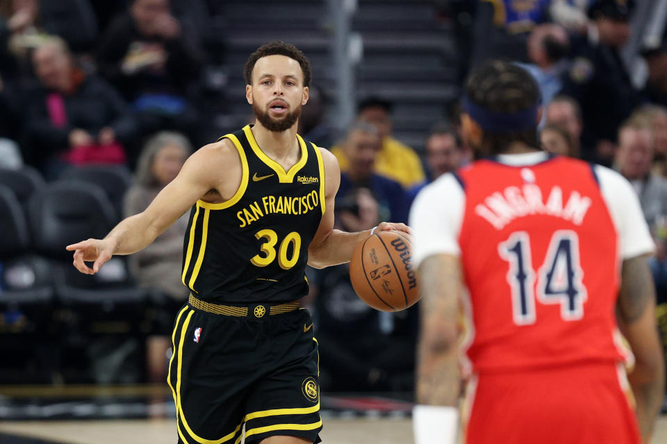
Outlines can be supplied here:
M340 171L347 171L349 160L343 148L334 146L331 148L331 153L338 158ZM382 142L382 149L375 159L375 172L399 182L405 189L419 185L426 179L417 153L393 137L386 137Z

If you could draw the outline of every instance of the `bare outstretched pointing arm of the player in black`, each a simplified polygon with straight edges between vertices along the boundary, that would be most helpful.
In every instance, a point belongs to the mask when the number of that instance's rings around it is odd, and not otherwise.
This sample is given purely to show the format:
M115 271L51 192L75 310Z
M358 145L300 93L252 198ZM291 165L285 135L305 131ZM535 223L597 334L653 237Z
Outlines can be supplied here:
M238 176L238 178L236 178ZM94 274L113 255L129 255L145 248L211 189L224 189L240 182L240 160L236 148L224 139L192 154L178 176L164 187L146 210L118 223L104 239L88 239L67 246L74 251L74 266ZM232 191L233 194L233 191ZM92 268L85 261L94 261Z

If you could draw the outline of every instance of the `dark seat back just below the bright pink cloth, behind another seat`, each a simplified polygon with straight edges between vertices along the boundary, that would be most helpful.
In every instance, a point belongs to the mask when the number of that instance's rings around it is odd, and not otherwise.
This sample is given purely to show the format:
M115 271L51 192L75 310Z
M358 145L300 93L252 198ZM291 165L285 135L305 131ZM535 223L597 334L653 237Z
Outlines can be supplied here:
M81 180L101 187L111 200L117 219L122 219L125 191L132 184L131 173L126 167L122 165L71 167L60 175L60 180Z

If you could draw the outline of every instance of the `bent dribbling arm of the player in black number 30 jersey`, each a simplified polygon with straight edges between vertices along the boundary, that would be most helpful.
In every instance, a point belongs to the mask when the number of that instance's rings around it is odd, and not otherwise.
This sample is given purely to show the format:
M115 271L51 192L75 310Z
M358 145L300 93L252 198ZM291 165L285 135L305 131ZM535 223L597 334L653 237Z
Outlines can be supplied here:
M340 167L336 156L324 148L320 148L320 152L324 161L324 183L326 187L324 199L327 210L322 215L318 231L315 233L310 246L308 246L308 265L314 268L324 268L349 262L359 242L362 242L371 234L371 230L355 233L334 230L334 207L336 205L336 193L340 186ZM383 222L377 226L376 230L400 230L410 233L410 228L404 223Z

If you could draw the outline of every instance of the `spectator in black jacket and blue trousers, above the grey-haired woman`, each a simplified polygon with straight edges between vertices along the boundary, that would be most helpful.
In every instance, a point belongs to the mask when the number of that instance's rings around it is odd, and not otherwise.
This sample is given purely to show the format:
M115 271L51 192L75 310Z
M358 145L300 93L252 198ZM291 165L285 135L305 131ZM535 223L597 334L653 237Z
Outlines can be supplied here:
M193 35L172 15L169 0L133 0L101 39L99 70L133 103L145 133L176 128L197 137L190 101L203 56Z

